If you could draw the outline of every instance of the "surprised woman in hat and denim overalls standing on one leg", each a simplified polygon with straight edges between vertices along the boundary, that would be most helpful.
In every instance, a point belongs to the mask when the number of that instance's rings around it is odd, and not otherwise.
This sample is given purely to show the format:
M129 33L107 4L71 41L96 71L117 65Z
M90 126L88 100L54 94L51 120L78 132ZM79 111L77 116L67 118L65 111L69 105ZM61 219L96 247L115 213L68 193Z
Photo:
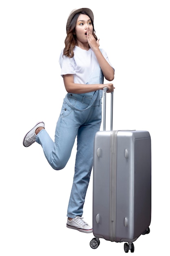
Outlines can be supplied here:
M74 9L67 20L65 48L59 63L65 89L68 92L55 130L54 142L45 130L44 122L37 123L24 137L28 147L39 143L48 163L55 170L67 164L77 137L74 180L68 204L67 227L91 233L92 227L82 218L85 195L93 165L94 137L102 119L102 89L114 90L114 69L107 54L99 49L95 35L94 15L88 8Z

